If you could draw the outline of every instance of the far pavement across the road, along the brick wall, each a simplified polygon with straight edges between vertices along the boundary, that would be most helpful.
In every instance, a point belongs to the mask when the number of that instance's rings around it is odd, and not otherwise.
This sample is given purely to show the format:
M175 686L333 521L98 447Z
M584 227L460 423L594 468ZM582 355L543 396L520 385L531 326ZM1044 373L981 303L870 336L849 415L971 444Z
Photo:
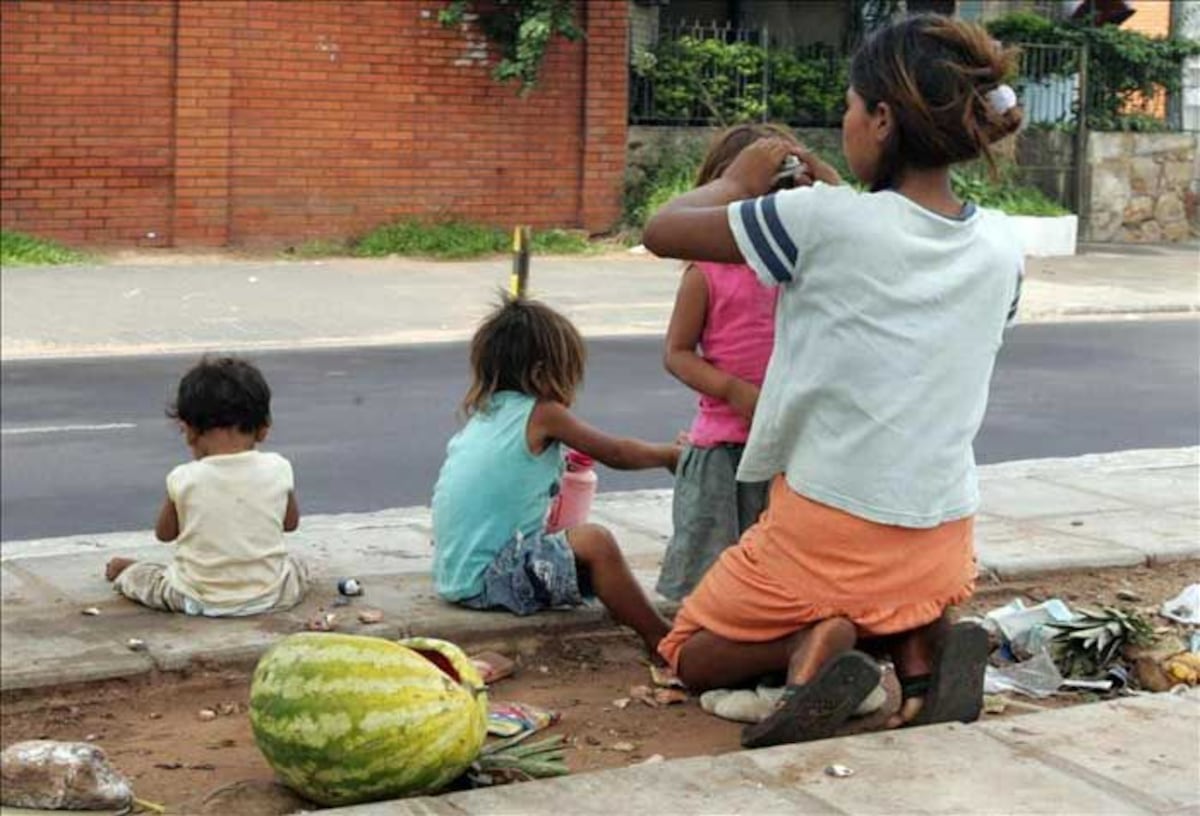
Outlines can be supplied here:
M1025 322L1200 312L1200 247L1097 247L1028 259ZM650 256L534 258L535 296L586 336L661 335L680 265ZM460 341L510 262L238 260L139 254L6 268L0 359L247 352Z

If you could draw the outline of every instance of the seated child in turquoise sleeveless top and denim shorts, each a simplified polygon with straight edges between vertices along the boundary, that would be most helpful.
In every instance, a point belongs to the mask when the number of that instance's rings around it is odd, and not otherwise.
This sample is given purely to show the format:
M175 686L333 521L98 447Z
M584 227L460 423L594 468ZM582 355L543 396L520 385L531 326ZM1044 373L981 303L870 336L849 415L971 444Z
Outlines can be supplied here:
M583 380L580 332L544 304L506 299L470 343L467 425L433 488L433 580L445 600L532 614L595 594L654 654L670 628L599 524L546 532L563 446L612 468L674 469L679 449L610 437L570 407Z

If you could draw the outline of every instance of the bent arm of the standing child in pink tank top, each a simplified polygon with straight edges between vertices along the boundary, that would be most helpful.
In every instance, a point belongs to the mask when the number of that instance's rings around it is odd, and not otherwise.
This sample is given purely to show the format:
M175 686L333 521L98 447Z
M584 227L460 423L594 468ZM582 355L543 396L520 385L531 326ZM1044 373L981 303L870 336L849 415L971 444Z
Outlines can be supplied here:
M695 266L684 270L676 294L674 310L667 326L662 365L694 391L720 400L733 407L745 419L754 416L758 389L751 383L726 373L696 354L704 316L708 311L708 283Z

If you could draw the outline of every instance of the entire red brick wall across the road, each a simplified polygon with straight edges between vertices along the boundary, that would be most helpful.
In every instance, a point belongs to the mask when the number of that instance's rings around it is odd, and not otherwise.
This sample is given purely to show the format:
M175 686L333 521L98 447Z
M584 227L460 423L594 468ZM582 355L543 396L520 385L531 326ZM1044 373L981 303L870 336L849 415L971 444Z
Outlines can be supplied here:
M478 30L437 22L443 6L6 0L2 223L209 246L406 215L612 226L626 0L580 2L588 38L556 41L524 98L491 79Z

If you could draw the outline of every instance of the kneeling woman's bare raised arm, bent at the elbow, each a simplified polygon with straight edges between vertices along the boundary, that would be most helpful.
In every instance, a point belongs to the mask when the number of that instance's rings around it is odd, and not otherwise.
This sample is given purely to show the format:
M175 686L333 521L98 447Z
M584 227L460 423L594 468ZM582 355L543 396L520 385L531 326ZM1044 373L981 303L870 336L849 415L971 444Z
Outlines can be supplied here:
M785 139L760 139L738 154L719 179L667 202L646 223L642 244L661 258L743 263L725 208L770 192L788 155L810 168L798 184L840 182L838 173L805 148Z

